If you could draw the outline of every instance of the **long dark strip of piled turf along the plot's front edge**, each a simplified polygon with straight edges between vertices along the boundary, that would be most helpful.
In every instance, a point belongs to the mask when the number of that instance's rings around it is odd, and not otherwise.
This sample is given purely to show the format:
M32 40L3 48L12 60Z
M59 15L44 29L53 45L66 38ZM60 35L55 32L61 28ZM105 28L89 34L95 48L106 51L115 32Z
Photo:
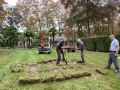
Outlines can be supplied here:
M76 78L82 78L82 77L89 77L91 76L91 73L89 72L84 72L84 73L78 73L78 74L71 74L69 76L62 76L62 75L57 75L57 76L49 76L44 79L42 78L20 78L19 79L19 84L35 84L35 83L50 83L50 82L60 82L60 81L65 81L65 80L70 80L70 79L76 79Z

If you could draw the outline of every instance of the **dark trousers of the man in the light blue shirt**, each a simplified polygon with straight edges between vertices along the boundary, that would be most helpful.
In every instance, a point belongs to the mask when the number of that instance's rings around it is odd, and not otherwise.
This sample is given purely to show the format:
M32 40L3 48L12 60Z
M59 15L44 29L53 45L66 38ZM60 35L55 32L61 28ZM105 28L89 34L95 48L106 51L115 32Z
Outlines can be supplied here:
M117 56L115 55L115 52L110 52L109 54L108 68L111 68L112 63L114 64L115 69L119 70L119 65L117 62Z

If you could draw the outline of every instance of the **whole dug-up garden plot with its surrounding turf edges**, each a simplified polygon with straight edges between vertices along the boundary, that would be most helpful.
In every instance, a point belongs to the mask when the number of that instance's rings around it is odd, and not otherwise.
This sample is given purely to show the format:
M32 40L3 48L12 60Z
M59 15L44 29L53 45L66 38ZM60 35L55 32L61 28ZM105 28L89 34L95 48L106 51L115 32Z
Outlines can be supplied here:
M49 83L64 80L90 77L97 73L106 75L104 70L93 65L83 65L76 62L69 62L68 65L55 65L56 60L48 60L31 64L13 65L12 72L19 72L19 84ZM22 69L21 69L22 67ZM15 69L17 68L17 70ZM20 68L20 69L19 69ZM97 69L95 69L97 68ZM22 72L21 72L22 71ZM96 74L96 75L97 75Z

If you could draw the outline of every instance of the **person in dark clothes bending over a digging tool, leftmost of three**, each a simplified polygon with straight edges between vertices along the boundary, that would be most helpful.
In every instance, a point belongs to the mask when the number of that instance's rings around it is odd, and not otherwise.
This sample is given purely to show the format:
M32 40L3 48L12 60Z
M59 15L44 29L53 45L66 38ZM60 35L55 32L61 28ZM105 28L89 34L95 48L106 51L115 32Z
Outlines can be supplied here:
M64 46L64 40L58 41L58 44L56 46L56 52L57 52L56 65L60 64L61 59L63 59L63 61L67 64L67 61L65 60L65 56L64 56L63 46Z

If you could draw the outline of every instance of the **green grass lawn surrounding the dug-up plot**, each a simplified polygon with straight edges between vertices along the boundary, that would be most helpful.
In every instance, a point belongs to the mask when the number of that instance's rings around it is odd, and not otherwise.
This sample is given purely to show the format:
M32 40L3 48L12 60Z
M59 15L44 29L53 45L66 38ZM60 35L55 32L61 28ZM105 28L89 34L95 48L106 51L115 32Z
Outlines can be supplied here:
M79 60L79 53L67 53L67 60ZM120 90L120 77L112 70L105 76L80 78L47 84L19 85L18 73L11 73L9 67L16 63L39 62L55 59L56 53L39 55L37 49L0 49L0 90ZM88 52L87 64L104 68L108 53Z

